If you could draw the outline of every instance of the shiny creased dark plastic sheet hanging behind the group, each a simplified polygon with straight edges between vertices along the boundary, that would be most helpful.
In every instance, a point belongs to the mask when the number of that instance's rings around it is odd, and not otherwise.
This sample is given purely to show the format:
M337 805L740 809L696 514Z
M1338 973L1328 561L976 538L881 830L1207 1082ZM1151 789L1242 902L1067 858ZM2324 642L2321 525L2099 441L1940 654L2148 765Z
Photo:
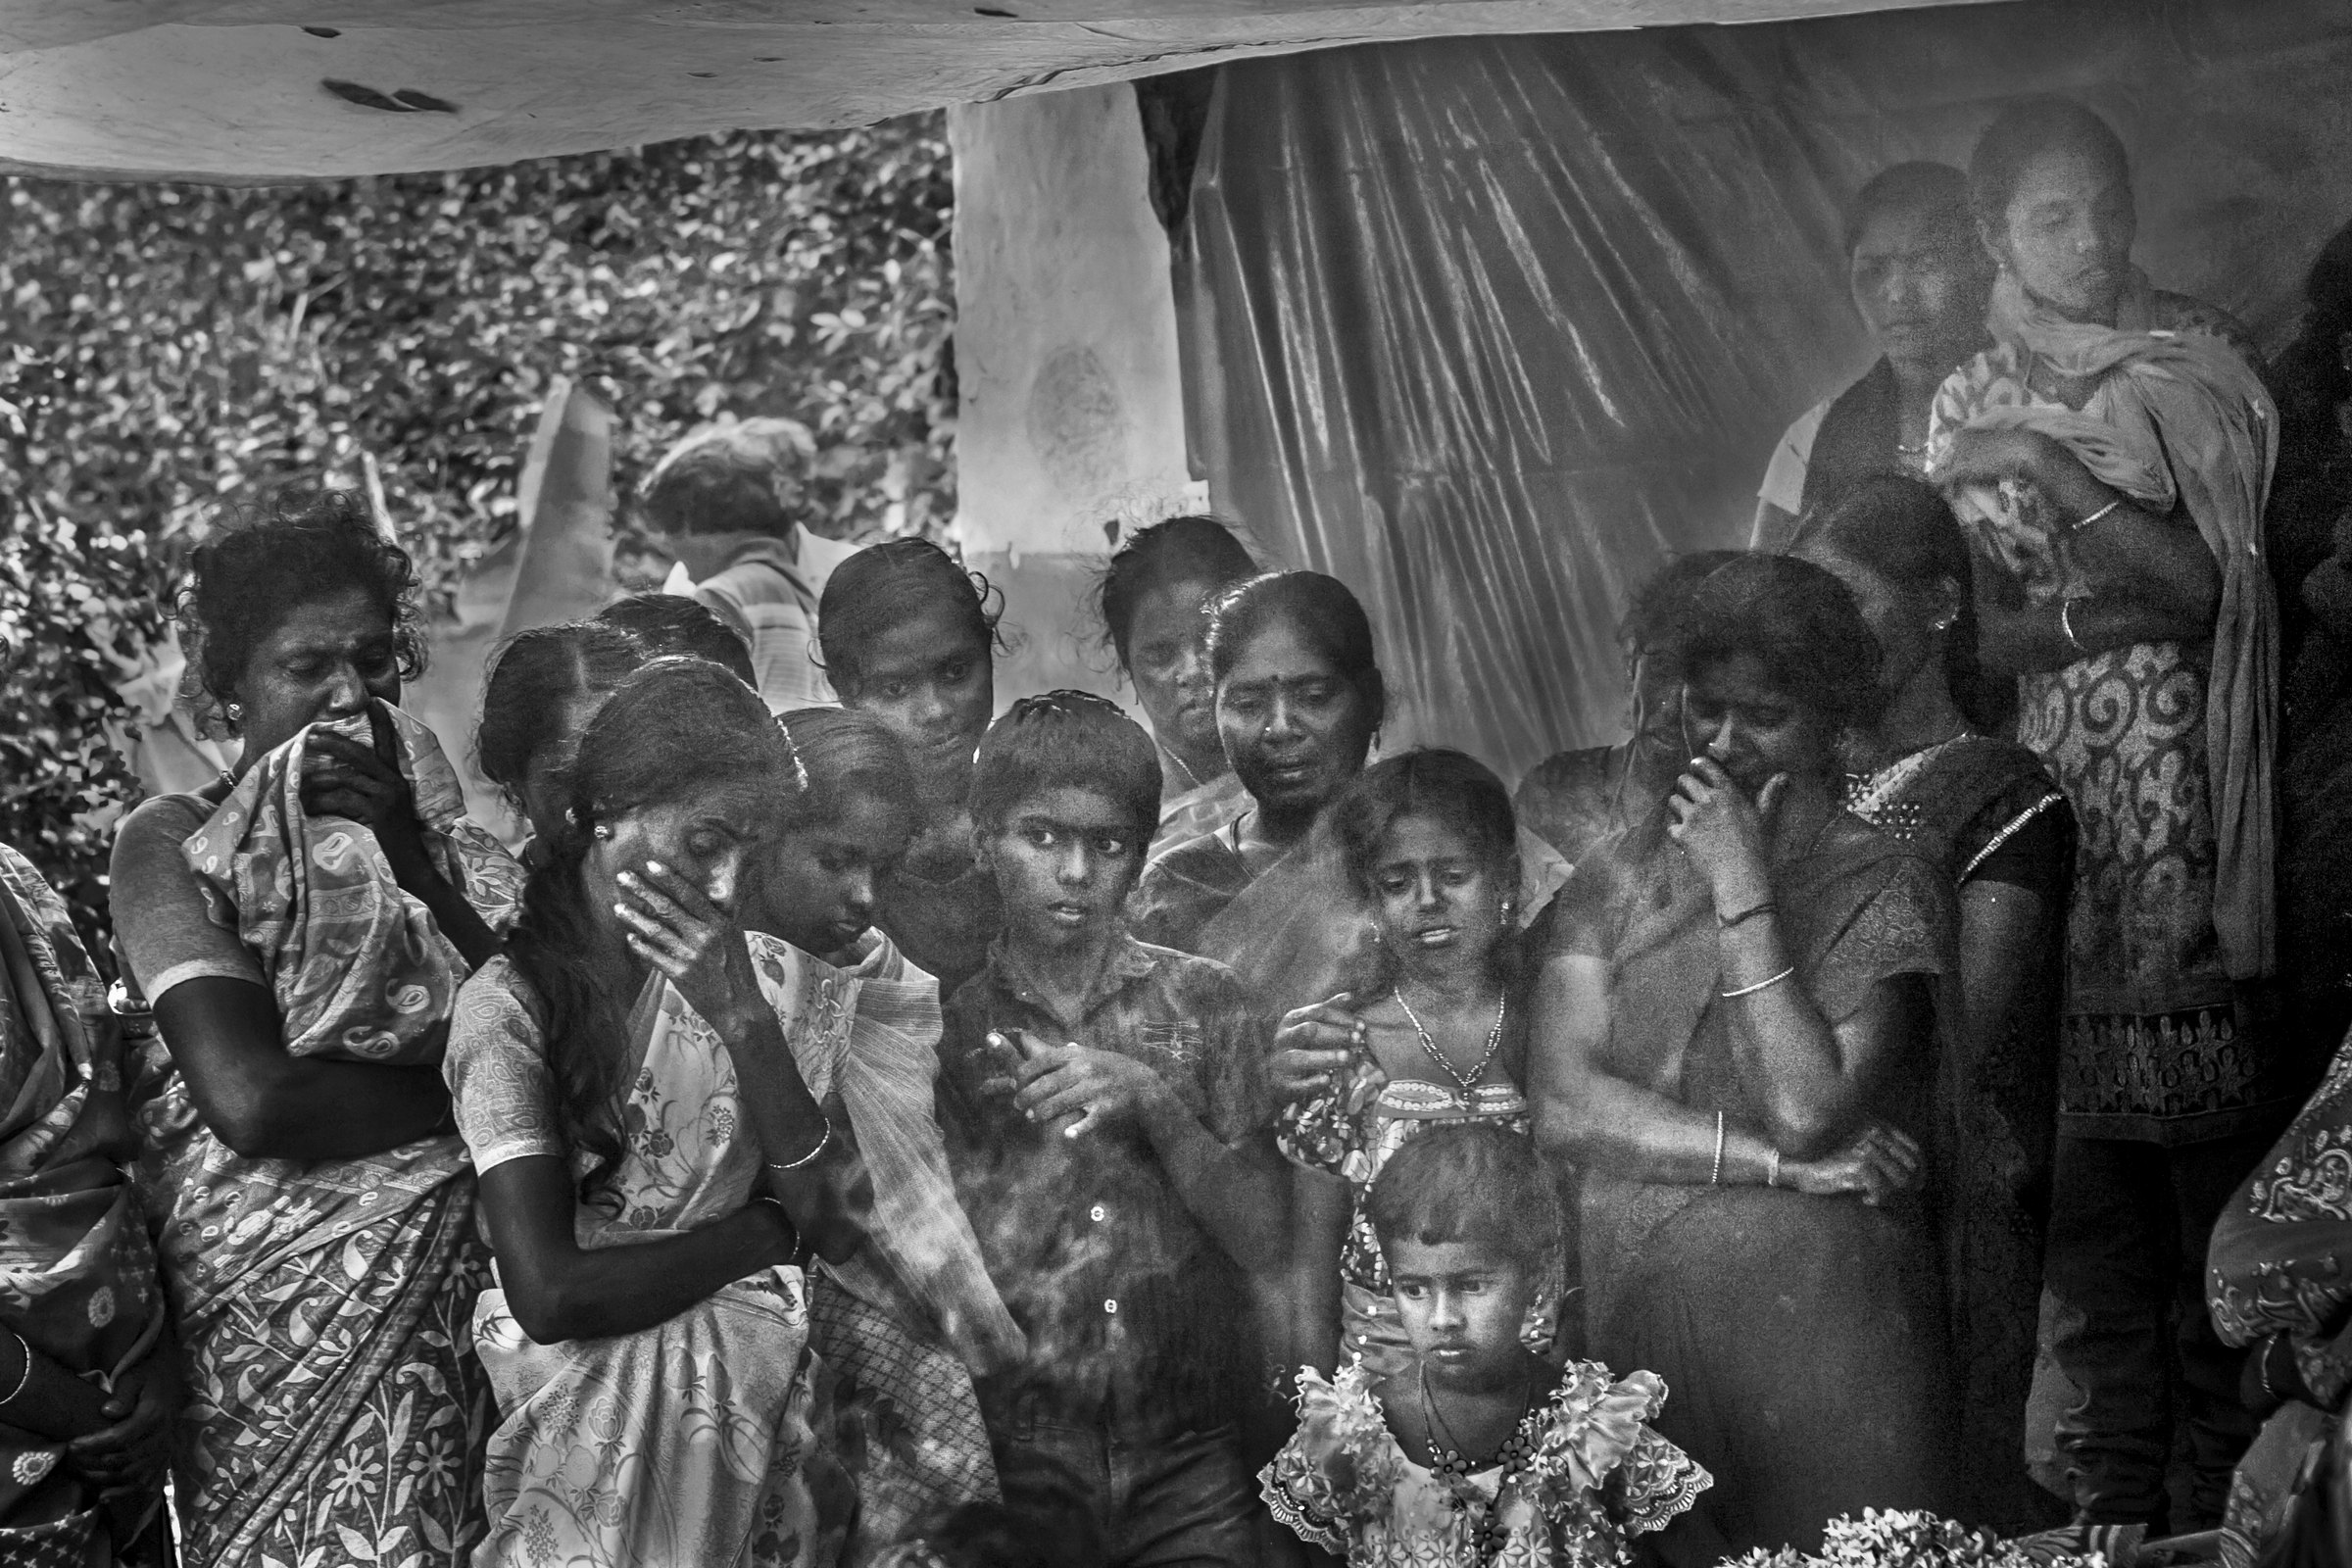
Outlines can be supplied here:
M2138 256L2277 350L2352 219L2352 7L1992 5L1225 66L1178 242L1221 510L1367 597L1390 741L1515 778L1623 722L1613 625L1745 543L1783 425L1870 360L1842 207L2070 92Z

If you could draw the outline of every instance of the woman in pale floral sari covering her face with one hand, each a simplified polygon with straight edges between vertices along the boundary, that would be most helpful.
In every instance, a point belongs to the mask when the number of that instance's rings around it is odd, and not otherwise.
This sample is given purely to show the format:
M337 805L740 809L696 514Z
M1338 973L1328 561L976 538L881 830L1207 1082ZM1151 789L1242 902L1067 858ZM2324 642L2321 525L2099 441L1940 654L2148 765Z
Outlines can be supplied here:
M459 997L449 1091L499 1284L501 1563L830 1563L800 1258L849 1258L847 1140L736 919L790 788L741 679L656 658L595 710L506 957Z

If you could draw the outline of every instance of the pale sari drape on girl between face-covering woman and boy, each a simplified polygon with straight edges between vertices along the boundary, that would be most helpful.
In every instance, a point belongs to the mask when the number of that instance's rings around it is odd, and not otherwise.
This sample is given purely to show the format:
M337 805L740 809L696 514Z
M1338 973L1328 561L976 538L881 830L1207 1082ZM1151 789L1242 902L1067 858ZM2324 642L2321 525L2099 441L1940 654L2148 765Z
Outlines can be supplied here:
M811 1281L837 1450L858 1486L844 1561L861 1563L917 1514L995 1500L971 1380L1018 1366L1028 1345L988 1279L934 1119L938 985L880 933L854 969L757 931L750 950L802 1081L840 1098L873 1180L868 1246Z

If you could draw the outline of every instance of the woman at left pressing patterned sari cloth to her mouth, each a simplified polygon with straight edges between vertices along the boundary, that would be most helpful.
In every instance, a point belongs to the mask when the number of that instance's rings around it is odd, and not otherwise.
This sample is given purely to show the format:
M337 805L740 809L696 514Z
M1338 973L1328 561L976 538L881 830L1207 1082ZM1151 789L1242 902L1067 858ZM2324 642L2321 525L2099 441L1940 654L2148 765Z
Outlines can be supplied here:
M416 574L327 496L205 541L195 696L238 771L122 823L113 912L162 1039L134 1107L202 1563L461 1563L482 1533L485 1253L440 1051L520 870L400 715Z

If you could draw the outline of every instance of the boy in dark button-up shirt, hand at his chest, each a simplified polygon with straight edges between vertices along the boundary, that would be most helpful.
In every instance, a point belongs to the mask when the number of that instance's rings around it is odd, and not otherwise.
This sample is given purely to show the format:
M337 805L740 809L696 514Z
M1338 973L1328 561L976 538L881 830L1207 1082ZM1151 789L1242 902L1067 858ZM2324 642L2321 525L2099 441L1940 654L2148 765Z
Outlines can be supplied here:
M1009 1505L1077 1476L1105 1563L1251 1563L1244 1269L1282 1253L1265 1030L1232 971L1120 924L1160 818L1150 736L1103 698L1014 703L971 785L1004 929L948 1004L941 1124L1028 1335L981 1382Z

